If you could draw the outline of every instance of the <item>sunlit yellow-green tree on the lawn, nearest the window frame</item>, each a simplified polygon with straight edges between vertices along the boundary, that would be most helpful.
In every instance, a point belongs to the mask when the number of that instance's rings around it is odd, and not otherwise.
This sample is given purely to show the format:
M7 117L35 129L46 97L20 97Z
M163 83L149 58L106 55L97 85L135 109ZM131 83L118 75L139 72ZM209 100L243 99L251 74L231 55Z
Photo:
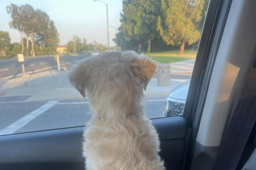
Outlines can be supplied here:
M204 0L162 0L162 18L158 17L157 31L167 45L180 45L183 54L189 45L200 38L197 24L202 18Z

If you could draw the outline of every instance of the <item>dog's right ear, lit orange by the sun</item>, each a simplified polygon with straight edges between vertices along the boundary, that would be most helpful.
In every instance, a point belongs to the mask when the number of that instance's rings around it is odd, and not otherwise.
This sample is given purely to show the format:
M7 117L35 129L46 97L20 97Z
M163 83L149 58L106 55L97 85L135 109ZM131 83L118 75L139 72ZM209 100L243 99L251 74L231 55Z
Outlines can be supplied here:
M140 80L141 85L144 86L144 90L146 90L150 79L156 75L157 62L151 60L144 54L140 54L133 60L131 67L134 76Z

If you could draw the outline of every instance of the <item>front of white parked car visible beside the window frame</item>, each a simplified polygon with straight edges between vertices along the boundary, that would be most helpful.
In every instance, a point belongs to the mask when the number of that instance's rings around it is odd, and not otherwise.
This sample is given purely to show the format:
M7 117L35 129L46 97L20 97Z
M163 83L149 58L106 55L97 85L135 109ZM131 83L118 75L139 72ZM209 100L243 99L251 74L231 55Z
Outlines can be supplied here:
M181 83L169 93L164 106L163 117L182 116L190 80Z

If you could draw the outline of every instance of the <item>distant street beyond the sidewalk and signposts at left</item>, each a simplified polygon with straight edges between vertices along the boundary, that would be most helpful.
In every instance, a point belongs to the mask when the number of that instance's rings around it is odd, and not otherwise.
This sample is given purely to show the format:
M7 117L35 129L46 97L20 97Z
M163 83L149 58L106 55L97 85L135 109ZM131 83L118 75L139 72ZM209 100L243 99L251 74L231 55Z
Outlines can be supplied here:
M70 67L74 62L90 56L90 54L59 56L60 65L62 67ZM57 69L54 56L25 57L24 60L25 72L34 72L49 67L49 69ZM22 74L22 67L17 58L0 58L0 79L18 74Z

